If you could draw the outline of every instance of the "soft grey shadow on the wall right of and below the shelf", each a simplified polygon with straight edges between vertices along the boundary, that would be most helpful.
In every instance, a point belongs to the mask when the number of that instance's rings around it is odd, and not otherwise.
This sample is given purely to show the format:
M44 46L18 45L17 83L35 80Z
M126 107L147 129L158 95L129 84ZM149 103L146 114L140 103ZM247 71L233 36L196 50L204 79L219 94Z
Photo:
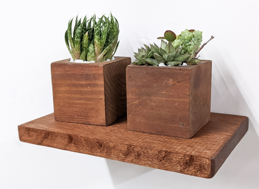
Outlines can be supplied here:
M220 60L220 57L217 57ZM213 61L212 61L213 62ZM224 61L220 64L224 65ZM257 188L259 185L259 138L254 129L258 123L233 77L227 69L214 63L212 69L212 112L245 115L249 128L212 179L163 171L106 160L114 188Z

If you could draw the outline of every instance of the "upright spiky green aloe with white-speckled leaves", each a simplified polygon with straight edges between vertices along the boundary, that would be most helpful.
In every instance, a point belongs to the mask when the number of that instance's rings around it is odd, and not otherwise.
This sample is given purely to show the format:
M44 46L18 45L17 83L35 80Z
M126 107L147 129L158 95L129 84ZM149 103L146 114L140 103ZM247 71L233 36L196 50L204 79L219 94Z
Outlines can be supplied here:
M72 32L73 18L69 20L65 33L66 46L73 60L81 59L89 62L104 62L112 59L118 48L119 24L110 14L96 20L85 16L81 22L76 17Z

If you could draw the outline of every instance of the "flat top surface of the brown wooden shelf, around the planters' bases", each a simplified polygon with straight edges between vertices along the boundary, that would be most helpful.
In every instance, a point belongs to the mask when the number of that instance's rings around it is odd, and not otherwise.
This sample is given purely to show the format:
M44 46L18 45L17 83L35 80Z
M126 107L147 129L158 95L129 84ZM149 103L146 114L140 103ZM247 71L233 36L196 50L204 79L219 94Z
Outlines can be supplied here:
M212 159L239 127L248 127L248 124L242 125L247 119L245 116L211 113L211 120L190 139L130 131L126 117L104 127L55 121L54 114L50 114L21 126Z

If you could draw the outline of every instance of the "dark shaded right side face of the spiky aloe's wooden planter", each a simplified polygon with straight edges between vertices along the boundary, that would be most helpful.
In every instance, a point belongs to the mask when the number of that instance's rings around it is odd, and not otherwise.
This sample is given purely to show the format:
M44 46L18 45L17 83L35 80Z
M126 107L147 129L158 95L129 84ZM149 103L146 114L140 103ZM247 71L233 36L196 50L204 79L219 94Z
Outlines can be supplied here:
M130 63L128 57L103 67L106 125L127 114L126 67Z

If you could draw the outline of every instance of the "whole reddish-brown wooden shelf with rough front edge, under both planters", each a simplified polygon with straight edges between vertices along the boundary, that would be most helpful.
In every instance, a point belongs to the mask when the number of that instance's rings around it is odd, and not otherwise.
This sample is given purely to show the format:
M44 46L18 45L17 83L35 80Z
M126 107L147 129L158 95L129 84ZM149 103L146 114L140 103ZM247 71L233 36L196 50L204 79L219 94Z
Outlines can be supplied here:
M126 117L103 127L50 114L18 126L22 142L203 178L216 174L247 129L247 117L218 113L190 139L130 131Z

